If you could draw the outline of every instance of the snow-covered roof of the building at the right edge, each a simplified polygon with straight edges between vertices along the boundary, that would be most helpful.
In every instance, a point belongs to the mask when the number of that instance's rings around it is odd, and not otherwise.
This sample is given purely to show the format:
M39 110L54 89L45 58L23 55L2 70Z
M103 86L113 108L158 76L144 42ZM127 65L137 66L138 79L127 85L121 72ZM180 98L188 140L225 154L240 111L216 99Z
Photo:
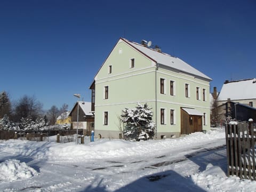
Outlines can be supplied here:
M222 85L218 100L226 101L256 99L256 78L225 82Z

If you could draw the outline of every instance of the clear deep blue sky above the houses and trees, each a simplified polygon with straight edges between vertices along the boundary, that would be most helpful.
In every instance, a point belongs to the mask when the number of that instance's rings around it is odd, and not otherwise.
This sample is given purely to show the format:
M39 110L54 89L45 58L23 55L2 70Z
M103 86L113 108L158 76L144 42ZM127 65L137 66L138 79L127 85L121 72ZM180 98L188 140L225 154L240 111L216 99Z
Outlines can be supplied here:
M44 109L89 86L119 37L150 40L223 82L256 77L256 2L0 1L0 91L35 95Z

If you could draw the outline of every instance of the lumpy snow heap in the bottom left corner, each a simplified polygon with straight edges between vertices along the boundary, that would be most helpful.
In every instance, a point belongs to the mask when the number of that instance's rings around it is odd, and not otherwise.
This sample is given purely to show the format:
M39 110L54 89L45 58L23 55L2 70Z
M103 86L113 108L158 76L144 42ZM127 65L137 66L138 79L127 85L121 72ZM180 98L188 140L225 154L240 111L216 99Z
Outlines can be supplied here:
M17 159L7 159L0 163L0 180L14 181L18 179L28 179L38 173L26 163L21 163Z

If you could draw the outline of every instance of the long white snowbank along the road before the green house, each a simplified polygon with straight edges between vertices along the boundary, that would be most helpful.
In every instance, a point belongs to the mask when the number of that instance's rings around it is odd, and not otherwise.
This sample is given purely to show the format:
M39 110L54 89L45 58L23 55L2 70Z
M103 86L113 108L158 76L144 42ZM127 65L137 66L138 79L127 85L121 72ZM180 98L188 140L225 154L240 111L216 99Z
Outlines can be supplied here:
M49 159L61 159L61 161L86 161L103 158L123 158L134 155L157 155L167 153L170 150L182 151L189 145L202 145L209 141L220 139L225 142L224 130L214 130L207 134L202 132L192 133L178 139L148 140L148 141L125 141L119 139L99 139L85 145L74 143L61 143L49 148L46 156ZM186 143L186 145L185 145Z

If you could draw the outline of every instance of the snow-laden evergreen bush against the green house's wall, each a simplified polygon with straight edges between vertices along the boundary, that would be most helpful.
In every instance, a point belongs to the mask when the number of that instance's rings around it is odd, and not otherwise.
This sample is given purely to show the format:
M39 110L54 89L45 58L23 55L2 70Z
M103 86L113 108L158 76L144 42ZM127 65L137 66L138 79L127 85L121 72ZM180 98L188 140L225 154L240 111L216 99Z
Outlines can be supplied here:
M137 106L133 109L125 108L122 110L122 122L126 123L124 127L125 139L129 140L148 140L153 139L155 135L155 123L152 120L153 111L147 103Z

